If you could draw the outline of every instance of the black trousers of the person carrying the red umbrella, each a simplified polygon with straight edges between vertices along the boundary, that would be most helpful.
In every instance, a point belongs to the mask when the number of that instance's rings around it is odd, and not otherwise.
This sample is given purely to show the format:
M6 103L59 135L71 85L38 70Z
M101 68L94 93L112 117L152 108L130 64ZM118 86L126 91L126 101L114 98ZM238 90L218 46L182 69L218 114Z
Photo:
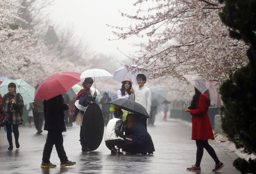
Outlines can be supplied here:
M45 163L50 162L50 157L51 157L54 144L55 144L60 162L68 161L68 157L63 147L62 130L48 130L46 143L44 145L42 161Z

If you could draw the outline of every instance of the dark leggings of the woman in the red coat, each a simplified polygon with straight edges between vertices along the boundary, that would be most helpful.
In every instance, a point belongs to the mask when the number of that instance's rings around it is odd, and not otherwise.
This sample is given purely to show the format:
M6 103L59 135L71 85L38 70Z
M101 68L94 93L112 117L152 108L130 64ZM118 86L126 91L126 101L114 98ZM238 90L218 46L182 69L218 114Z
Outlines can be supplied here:
M197 144L197 160L196 167L200 167L200 163L203 157L203 148L207 150L209 155L213 158L216 164L219 164L219 159L213 150L212 146L208 143L208 140L196 140Z

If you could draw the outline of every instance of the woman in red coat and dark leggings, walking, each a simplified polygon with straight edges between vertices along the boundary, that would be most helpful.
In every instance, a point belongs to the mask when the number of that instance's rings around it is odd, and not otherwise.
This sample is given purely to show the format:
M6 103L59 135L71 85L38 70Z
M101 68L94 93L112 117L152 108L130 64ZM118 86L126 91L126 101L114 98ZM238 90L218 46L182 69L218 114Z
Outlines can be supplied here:
M201 93L195 88L195 95L191 101L191 105L184 108L184 111L190 112L192 115L192 140L196 140L197 155L196 164L191 168L187 168L188 171L201 171L200 163L203 157L203 148L211 155L215 161L215 169L213 172L219 171L224 164L219 161L214 149L209 145L208 140L214 140L212 126L208 117L208 109L210 105L210 95L208 90Z

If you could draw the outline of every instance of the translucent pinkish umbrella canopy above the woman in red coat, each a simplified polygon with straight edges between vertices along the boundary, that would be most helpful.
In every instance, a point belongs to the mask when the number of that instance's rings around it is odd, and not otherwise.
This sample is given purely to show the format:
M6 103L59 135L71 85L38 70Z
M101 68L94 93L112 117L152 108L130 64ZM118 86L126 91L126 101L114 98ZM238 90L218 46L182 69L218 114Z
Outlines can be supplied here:
M204 93L208 89L210 100L215 104L215 106L221 107L221 97L211 82L198 75L184 75L184 77L201 93Z

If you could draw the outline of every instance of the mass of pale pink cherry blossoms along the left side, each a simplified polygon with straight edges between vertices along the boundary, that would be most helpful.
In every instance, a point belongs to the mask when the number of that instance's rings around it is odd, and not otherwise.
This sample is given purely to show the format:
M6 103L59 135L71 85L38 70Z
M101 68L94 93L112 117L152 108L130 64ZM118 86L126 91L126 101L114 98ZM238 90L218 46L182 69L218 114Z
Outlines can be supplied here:
M75 65L41 42L41 33L30 35L22 28L12 28L21 7L12 0L0 1L0 76L23 79L34 86L56 72L83 72L90 63Z

